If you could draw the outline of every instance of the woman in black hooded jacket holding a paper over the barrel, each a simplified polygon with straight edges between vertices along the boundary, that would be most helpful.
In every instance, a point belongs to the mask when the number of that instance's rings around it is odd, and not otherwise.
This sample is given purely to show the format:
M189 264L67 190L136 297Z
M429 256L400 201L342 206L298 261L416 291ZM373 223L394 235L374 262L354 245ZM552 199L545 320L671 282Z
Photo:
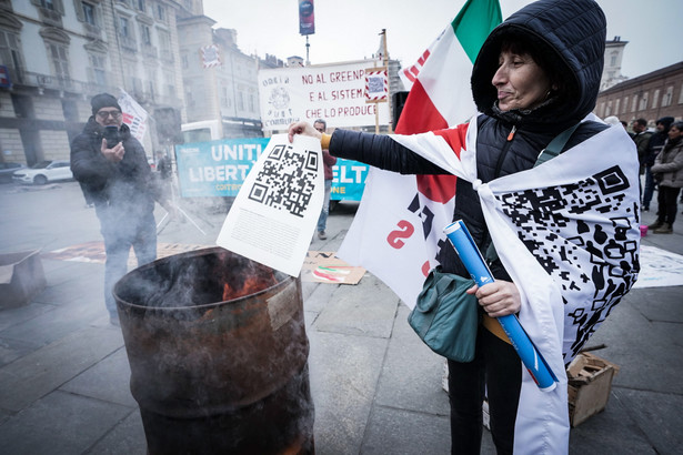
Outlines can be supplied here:
M490 33L472 71L472 93L481 112L475 120L476 178L481 182L532 169L541 151L571 128L575 127L575 130L563 150L574 148L607 129L604 123L587 118L595 105L600 87L605 28L604 14L592 0L542 0L520 10ZM429 140L433 136L446 138L451 144L466 128L461 125L425 134L431 134ZM401 136L344 130L335 130L330 136L318 133L304 122L292 124L289 133L290 140L298 133L320 138L322 148L329 145L331 154L381 169L405 174L448 173L406 146L409 141L401 140ZM633 181L636 182L635 150L629 152L633 153ZM637 196L637 184L635 189ZM629 210L632 215L632 209ZM478 193L472 183L460 178L456 180L453 220L465 222L482 252L489 249L490 226L484 220ZM528 247L532 250L535 246L529 242ZM535 250L533 253L538 254ZM469 277L448 243L444 243L438 260L444 272ZM627 262L622 265L630 273L636 272L636 266L632 267ZM491 431L498 453L512 453L513 447L520 448L519 444L526 443L515 443L522 365L494 320L523 310L522 299L500 260L493 261L490 267L495 282L468 291L475 293L484 310L475 358L471 363L449 361L453 453L479 453L484 393L489 400ZM625 280L627 289L634 281L633 274ZM616 296L610 301L606 307L619 302L619 299ZM566 310L568 313L571 311ZM595 318L583 318L586 325L579 330L575 317L565 316L566 324L574 325L573 332L564 334L565 362L576 354L603 315L596 312ZM541 451L566 452L568 423L561 433L561 442L542 442ZM535 452L529 446L524 451Z

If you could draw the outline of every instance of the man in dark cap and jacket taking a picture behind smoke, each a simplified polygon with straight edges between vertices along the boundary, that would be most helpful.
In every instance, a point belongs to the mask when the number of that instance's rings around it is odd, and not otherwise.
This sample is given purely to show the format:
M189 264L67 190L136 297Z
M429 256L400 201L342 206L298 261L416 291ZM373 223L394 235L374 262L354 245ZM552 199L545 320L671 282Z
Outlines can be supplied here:
M119 325L112 290L128 272L130 249L138 265L155 260L154 201L171 213L174 209L155 186L144 149L122 122L117 99L100 93L90 103L92 117L71 143L71 171L100 220L107 252L104 304L110 322Z

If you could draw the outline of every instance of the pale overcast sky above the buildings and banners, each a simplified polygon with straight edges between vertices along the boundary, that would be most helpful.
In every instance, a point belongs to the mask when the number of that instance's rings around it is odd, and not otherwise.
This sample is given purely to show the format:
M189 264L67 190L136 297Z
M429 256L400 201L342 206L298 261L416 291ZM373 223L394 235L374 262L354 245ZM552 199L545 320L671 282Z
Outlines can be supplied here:
M503 19L531 3L500 0ZM629 78L683 61L681 0L599 0L607 18L607 39L629 41L622 74ZM248 54L305 59L299 34L298 0L203 0L217 27L235 29ZM309 37L311 64L359 60L376 52L386 29L389 54L414 63L464 0L314 0L315 34ZM390 8L388 8L388 6Z

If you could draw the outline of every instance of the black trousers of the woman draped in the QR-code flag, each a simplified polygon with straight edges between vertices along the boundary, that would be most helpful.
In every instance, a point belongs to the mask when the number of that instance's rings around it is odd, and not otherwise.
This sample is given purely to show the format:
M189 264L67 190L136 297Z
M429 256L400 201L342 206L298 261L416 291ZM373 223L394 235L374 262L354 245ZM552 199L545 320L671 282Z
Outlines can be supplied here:
M480 326L474 361L449 361L451 454L479 455L484 394L495 448L499 455L512 454L521 387L522 363L518 353Z

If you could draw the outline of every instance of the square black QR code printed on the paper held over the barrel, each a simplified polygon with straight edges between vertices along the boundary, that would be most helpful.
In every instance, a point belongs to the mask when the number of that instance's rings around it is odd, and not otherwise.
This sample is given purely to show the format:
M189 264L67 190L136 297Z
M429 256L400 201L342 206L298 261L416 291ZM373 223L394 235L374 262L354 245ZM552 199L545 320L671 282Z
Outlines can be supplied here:
M275 145L257 174L249 199L303 218L318 176L315 152L294 152L291 145Z

